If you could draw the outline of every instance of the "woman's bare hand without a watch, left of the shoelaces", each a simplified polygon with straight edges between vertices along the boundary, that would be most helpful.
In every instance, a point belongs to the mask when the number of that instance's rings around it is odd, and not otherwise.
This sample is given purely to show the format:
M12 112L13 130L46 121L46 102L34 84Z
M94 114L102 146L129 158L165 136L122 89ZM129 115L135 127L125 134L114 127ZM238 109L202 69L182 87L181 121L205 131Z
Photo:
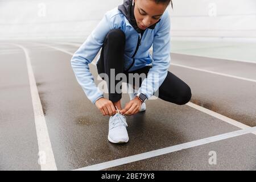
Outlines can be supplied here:
M100 109L102 115L112 116L115 115L115 113L117 113L117 110L115 110L113 102L104 97L98 99L95 102L95 105L96 107L98 107L98 109Z

